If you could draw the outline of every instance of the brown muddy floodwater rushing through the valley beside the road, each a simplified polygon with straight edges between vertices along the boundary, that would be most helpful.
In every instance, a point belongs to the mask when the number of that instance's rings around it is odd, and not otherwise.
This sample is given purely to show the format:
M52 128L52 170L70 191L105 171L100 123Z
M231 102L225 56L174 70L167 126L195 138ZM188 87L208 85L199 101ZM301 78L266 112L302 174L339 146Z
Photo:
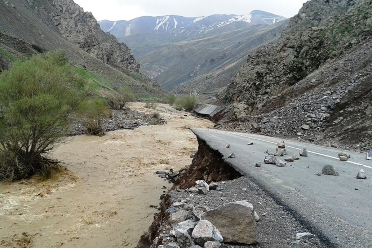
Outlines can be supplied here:
M51 154L64 172L0 183L0 247L135 247L157 212L150 205L171 186L155 171L190 164L197 141L187 128L212 123L166 104L130 107L168 123L67 138Z

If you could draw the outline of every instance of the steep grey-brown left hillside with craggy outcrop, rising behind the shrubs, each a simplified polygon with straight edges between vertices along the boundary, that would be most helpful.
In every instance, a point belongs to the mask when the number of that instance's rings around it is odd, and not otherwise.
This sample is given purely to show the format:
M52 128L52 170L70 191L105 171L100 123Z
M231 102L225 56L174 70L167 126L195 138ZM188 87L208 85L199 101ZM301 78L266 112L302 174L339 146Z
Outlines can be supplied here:
M100 78L96 81L108 81L105 87L130 87L138 98L164 96L138 73L130 49L72 0L0 0L0 16L0 70L32 54L65 50L78 67Z

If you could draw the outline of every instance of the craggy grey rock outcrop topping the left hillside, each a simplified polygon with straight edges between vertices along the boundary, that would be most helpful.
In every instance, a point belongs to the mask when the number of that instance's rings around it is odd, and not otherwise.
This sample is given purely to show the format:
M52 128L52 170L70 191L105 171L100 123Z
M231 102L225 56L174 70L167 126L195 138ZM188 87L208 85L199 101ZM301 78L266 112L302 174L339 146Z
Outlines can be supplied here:
M128 46L104 33L92 13L84 12L73 0L50 2L57 10L51 13L52 20L65 38L112 67L138 73L140 64Z

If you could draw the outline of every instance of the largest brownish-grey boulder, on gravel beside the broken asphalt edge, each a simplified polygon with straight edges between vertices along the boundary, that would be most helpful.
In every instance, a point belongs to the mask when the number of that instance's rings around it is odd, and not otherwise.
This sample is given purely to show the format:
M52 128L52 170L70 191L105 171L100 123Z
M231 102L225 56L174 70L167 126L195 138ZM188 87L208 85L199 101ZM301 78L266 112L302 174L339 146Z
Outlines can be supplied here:
M224 242L253 244L257 242L253 205L247 201L230 202L202 215L221 232Z

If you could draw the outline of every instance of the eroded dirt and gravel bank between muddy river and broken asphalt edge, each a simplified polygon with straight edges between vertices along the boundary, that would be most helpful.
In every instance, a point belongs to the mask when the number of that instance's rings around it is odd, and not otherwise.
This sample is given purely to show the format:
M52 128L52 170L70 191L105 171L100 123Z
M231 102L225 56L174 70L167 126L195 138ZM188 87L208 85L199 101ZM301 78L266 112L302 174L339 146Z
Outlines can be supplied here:
M189 211L187 218L198 220L197 216L200 212L239 200L252 203L254 210L260 216L257 222L259 243L255 245L225 244L226 247L332 247L322 242L319 237L301 241L296 239L296 233L313 230L296 219L290 209L283 207L270 192L260 187L251 177L244 176L243 170L234 167L233 163L227 160L218 149L210 146L209 142L199 135L198 144L198 152L192 164L180 172L173 190L163 195L160 212L148 232L141 237L138 248L158 247L178 242L170 233L172 212L187 208ZM193 187L196 180L205 180L208 183L217 182L218 190L210 190L206 195L192 193L187 188ZM175 207L172 205L175 202L185 202L185 205Z

